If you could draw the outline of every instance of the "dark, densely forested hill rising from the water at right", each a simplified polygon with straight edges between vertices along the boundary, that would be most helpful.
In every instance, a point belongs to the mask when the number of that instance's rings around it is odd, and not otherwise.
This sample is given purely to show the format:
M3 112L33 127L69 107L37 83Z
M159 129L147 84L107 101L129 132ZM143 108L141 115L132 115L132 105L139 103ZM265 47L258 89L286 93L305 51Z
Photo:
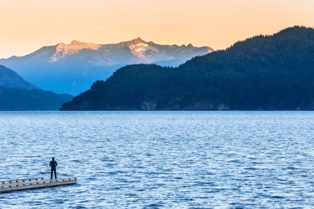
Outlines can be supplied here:
M314 29L255 36L175 68L128 65L60 110L314 110Z

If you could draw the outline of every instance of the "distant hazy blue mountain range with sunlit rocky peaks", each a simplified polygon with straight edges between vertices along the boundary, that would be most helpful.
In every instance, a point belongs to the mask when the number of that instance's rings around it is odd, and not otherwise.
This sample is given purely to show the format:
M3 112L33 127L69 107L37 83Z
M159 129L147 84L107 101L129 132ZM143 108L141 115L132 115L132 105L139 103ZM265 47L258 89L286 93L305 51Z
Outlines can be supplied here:
M118 44L73 40L70 44L44 46L29 55L0 59L0 65L16 71L44 90L77 95L89 89L95 80L106 79L124 65L178 66L192 57L213 51L210 47L192 44L160 45L141 38Z

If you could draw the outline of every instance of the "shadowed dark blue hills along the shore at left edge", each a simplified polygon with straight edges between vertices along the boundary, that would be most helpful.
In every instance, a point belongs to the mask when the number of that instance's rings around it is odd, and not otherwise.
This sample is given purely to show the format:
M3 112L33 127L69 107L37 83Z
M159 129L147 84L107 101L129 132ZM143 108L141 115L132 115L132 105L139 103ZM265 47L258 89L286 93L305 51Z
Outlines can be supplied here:
M0 65L0 111L58 110L72 98L69 94L44 91Z

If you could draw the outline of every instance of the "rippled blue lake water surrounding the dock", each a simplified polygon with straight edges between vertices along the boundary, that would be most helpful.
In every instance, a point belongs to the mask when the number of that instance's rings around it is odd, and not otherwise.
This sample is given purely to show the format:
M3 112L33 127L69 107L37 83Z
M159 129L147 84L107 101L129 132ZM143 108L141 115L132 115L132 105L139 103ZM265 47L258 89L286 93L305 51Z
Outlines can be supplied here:
M0 208L312 208L313 136L314 112L0 112L0 180L78 178Z

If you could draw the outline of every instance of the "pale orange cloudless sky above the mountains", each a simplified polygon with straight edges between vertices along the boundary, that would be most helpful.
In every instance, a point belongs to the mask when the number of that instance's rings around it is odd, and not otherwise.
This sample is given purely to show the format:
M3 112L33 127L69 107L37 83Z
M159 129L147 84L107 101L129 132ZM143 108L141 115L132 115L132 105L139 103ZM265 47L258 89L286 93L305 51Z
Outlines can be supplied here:
M109 44L141 37L225 49L253 35L314 27L313 0L0 1L0 58L74 39Z

